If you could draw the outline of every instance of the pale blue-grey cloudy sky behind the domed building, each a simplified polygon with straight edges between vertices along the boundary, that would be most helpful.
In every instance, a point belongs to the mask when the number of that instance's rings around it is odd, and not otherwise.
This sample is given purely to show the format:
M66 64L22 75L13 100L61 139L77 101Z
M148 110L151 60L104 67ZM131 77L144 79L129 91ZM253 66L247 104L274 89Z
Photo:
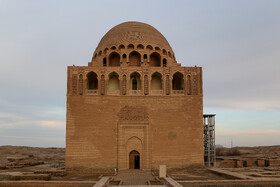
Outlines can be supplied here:
M0 0L0 145L65 147L67 66L87 66L126 21L203 68L216 144L280 145L278 0Z

